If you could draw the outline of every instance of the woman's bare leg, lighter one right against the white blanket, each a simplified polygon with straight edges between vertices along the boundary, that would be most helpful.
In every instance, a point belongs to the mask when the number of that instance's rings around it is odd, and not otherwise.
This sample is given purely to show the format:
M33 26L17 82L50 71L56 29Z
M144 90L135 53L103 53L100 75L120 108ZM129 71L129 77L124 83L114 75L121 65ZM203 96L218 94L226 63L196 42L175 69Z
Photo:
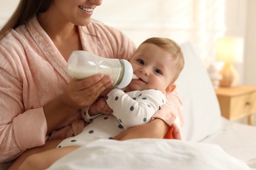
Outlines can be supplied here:
M53 148L51 150L47 150L45 152L41 152L38 154L33 154L29 156L24 163L20 166L19 170L26 169L47 169L49 168L55 161L60 158L66 156L79 146L66 146L63 148Z

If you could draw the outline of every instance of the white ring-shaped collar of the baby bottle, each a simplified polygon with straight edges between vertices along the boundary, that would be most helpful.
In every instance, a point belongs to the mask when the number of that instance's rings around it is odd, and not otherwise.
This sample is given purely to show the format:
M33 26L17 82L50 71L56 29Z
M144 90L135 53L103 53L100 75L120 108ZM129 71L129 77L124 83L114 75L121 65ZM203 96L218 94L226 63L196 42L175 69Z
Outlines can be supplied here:
M116 87L125 88L131 82L131 79L133 79L133 67L131 66L131 63L129 63L129 61L127 61L126 59L120 60L123 61L124 73L121 82L117 84Z

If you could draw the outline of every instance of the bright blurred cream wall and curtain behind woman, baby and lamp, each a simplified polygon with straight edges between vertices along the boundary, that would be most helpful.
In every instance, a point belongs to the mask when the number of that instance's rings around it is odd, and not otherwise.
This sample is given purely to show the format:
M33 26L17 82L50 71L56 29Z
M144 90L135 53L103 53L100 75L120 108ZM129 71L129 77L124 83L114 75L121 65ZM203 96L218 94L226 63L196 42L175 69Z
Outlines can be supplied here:
M18 0L1 1L0 26ZM239 84L256 85L255 0L104 0L93 18L121 29L139 45L148 37L168 37L180 44L192 42L205 69L216 62L217 39L244 40L242 61L234 63Z

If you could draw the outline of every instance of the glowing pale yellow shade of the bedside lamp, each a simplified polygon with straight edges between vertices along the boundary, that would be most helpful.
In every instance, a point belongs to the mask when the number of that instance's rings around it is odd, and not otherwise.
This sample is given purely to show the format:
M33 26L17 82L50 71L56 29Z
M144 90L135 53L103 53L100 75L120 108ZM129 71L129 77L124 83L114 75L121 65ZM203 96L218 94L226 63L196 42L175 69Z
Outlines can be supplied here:
M217 39L217 60L224 63L243 61L244 41L240 37L222 37Z

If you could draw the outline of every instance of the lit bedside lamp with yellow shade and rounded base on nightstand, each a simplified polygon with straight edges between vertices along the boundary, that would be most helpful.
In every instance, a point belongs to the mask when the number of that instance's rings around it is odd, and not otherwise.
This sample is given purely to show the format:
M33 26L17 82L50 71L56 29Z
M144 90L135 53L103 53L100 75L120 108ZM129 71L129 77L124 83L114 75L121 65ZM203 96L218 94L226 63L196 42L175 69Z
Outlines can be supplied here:
M240 37L222 37L217 39L217 61L223 61L224 66L220 71L223 78L219 86L236 86L239 81L238 71L234 68L234 63L243 61L244 41Z

